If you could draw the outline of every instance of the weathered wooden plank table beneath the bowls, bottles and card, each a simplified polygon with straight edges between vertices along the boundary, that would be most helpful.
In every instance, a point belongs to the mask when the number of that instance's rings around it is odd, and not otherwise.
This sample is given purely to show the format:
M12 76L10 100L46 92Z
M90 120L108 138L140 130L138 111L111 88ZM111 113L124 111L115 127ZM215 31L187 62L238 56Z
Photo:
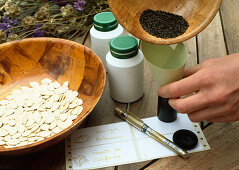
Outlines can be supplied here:
M185 42L189 61L187 67L203 60L239 52L239 1L224 0L213 22L198 36ZM82 42L90 47L90 39ZM114 106L137 113L141 118L156 116L157 86L145 66L145 93L134 103L120 104L109 96L108 82L103 96L81 127L90 127L121 121L114 116ZM239 169L239 122L205 126L204 134L211 150L180 157L122 165L113 169ZM65 169L64 141L46 150L20 156L0 156L0 169Z

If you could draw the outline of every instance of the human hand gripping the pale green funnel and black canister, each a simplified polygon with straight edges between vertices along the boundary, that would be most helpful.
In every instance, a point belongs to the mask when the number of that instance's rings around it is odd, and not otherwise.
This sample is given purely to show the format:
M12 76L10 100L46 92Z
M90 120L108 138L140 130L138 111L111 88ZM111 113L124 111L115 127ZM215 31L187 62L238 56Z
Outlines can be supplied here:
M239 120L239 53L206 60L186 69L184 77L160 87L158 95L170 98L169 104L193 122Z

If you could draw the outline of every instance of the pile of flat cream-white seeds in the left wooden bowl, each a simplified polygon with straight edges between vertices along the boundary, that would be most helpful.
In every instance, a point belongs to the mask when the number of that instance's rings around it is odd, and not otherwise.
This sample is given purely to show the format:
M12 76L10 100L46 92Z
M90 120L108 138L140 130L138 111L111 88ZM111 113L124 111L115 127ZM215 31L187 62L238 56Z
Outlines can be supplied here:
M77 91L43 79L11 92L0 101L0 145L23 146L44 140L69 127L82 112Z

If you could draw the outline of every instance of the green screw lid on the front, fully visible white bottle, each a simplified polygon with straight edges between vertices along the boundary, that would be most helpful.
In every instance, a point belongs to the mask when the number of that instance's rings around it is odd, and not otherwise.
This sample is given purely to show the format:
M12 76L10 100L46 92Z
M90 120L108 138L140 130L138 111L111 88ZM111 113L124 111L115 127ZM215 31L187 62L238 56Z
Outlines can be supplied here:
M138 42L136 38L128 35L121 35L109 42L110 53L119 59L128 59L138 54Z

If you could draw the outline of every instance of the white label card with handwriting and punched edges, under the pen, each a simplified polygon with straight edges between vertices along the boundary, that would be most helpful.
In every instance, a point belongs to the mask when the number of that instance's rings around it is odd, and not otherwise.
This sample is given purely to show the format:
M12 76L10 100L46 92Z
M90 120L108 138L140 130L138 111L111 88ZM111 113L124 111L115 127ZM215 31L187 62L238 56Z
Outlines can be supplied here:
M171 141L177 130L193 131L199 142L189 153L210 149L200 126L186 114L178 114L173 123L161 122L157 117L143 121ZM66 169L96 169L175 155L127 122L78 129L66 139Z

